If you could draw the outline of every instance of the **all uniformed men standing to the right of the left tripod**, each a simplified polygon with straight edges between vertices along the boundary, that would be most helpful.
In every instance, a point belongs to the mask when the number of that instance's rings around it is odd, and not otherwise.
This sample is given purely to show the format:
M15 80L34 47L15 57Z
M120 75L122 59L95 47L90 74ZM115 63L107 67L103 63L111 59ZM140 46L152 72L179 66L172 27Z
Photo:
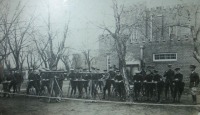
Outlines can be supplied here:
M172 69L172 65L167 65L168 70L160 75L157 70L147 69L147 71L137 71L136 74L129 79L130 83L133 83L133 99L135 101L141 100L141 97L145 97L147 101L161 102L161 96L163 100L180 102L182 93L184 91L185 83L183 82L183 74L181 74L180 68ZM190 81L189 88L192 94L193 104L197 103L196 93L197 86L199 84L199 75L195 72L196 66L190 65ZM97 90L103 92L103 99L106 97L106 91L108 97L111 96L111 91L120 97L125 99L126 90L124 79L119 70L104 70L104 73L79 73L71 70L68 78L70 79L71 95L76 94L78 89L79 96L81 97L83 90L85 92L89 90L91 94L97 94ZM143 98L144 99L144 98Z

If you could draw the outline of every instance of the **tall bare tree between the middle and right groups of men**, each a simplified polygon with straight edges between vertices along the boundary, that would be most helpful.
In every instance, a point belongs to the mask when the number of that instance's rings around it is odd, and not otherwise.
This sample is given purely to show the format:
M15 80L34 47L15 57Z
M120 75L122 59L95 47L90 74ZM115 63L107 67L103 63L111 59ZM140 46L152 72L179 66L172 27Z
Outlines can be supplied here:
M126 76L126 50L127 50L127 41L129 40L131 34L132 34L132 24L123 24L122 23L122 17L124 13L124 6L118 5L116 0L113 0L113 11L114 11L114 19L115 19L115 30L112 31L106 26L101 26L101 29L104 29L107 31L112 38L114 39L114 46L117 51L117 55L119 58L119 67L120 71L123 75L125 85L126 85L126 91L127 95L129 91L129 82Z

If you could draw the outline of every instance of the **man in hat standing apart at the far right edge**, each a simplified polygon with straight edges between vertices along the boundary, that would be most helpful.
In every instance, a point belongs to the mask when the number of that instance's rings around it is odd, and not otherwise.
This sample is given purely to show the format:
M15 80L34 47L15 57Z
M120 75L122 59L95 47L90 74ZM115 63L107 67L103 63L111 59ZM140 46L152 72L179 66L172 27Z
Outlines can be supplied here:
M195 65L190 65L190 89L191 89L191 94L192 94L192 100L193 104L197 104L197 86L199 84L199 74L195 72L196 66Z

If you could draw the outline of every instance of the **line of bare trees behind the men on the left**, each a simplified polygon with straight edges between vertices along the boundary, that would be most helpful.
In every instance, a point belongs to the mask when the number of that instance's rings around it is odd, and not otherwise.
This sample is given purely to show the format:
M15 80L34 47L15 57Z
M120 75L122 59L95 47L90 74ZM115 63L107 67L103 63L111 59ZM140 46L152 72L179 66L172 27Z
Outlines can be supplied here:
M25 18L26 5L27 3L23 4L20 1L15 7L11 7L10 1L0 0L1 63L4 63L9 70L22 71L25 66L29 70L39 67L56 70L58 62L62 60L66 69L69 69L69 64L66 63L68 58L64 55L68 50L66 39L69 21L65 24L62 35L53 31L54 26L51 23L51 13L47 3L48 17L45 19L47 23L43 25L47 29L40 32L41 30L34 25L38 18L34 12Z

